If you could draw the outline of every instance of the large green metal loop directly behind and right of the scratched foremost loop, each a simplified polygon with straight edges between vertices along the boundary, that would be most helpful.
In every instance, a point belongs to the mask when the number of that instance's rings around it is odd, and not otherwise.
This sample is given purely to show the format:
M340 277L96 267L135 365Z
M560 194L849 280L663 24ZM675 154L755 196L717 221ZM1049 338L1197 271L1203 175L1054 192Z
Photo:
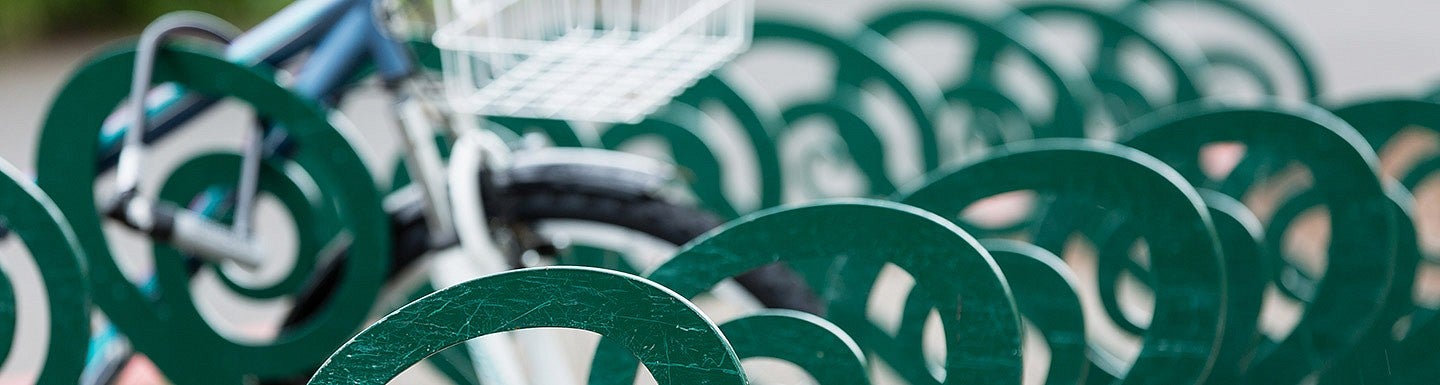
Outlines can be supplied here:
M910 206L832 200L762 211L690 242L647 278L694 297L756 267L805 261L832 264L835 284L819 290L825 317L912 384L1020 384L1020 314L1005 278L969 235ZM940 314L943 382L920 359L920 346L899 346L865 314L887 262L914 277ZM590 384L632 384L634 360L615 346L600 349Z

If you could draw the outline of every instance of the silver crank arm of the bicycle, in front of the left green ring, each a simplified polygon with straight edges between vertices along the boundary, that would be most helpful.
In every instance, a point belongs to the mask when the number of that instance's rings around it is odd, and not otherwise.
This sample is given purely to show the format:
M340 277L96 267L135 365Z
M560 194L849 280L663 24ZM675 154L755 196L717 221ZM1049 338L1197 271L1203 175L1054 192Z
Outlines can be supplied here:
M229 261L253 270L265 261L265 251L243 234L171 203L121 196L109 205L107 215L209 262Z

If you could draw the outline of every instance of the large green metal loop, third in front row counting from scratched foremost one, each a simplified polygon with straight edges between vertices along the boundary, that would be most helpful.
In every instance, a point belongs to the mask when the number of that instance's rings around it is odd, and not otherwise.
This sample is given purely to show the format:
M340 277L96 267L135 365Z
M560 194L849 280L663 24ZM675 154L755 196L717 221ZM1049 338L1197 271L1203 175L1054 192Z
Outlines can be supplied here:
M973 163L936 172L896 199L952 218L984 198L1015 190L1053 193L1120 213L1151 245L1155 314L1139 336L1139 358L1126 365L1092 355L1099 368L1090 371L1089 381L1204 381L1223 332L1225 274L1210 215L1195 189L1138 150L1050 138L1008 144ZM1068 235L1081 228L1051 231Z

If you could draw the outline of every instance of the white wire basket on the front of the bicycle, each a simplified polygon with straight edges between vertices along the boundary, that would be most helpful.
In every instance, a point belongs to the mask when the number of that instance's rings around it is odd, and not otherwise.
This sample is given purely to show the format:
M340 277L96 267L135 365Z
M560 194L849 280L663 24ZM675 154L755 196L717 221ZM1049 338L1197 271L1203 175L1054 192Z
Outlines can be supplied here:
M461 114L636 123L750 43L753 0L436 0Z

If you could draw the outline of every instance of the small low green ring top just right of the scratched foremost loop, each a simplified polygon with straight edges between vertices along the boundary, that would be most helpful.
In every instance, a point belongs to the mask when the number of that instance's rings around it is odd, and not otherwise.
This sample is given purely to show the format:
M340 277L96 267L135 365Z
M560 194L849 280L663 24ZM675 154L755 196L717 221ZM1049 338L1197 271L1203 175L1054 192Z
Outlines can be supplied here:
M834 323L795 310L765 310L724 324L736 356L775 358L805 369L825 385L868 385L865 353Z

